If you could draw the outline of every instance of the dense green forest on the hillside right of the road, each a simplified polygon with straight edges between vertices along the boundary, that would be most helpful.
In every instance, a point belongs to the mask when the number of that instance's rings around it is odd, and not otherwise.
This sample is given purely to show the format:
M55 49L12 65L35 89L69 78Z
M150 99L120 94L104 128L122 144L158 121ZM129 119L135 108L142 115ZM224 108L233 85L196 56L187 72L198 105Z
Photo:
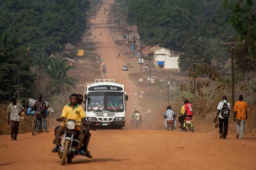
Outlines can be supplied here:
M184 52L179 67L186 71L191 62L215 59L219 66L230 58L228 46L220 41L245 41L235 48L236 69L256 69L256 10L253 0L130 0L127 21L136 24L141 40ZM243 52L241 52L243 51ZM241 57L243 55L244 57ZM194 58L195 56L195 58ZM243 66L238 63L245 63Z

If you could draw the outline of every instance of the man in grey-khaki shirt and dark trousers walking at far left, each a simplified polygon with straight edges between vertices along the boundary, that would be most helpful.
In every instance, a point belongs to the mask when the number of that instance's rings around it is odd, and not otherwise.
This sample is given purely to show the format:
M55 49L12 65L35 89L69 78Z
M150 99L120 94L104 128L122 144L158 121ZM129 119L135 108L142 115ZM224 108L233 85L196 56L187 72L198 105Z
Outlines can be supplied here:
M11 140L18 140L17 135L19 132L19 122L21 120L21 111L24 110L24 107L17 103L16 99L12 99L12 103L8 105L7 113L8 118L7 122L10 125L10 119L11 119Z

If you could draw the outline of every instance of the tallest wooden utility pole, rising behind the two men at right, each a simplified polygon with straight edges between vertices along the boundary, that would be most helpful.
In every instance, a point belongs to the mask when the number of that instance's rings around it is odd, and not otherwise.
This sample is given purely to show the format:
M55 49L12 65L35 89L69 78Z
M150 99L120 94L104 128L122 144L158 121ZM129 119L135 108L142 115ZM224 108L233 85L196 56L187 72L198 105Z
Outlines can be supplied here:
M222 41L220 44L228 44L231 45L231 91L232 91L232 107L235 105L235 69L234 69L234 47L236 44L244 44L245 42L234 42L234 38L231 38L231 43L223 43Z

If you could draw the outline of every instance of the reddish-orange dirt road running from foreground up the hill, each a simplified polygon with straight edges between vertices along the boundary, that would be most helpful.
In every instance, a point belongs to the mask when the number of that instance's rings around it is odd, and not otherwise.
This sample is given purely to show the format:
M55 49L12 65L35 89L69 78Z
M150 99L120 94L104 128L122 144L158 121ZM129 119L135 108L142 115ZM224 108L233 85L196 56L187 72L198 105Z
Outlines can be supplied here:
M122 65L130 62L122 50L107 37L107 13L112 0L105 0L93 20L97 39L97 52L106 61L107 77L125 84L129 95L127 108L132 111L134 83L128 79ZM100 36L100 32L103 36ZM116 58L116 53L121 58ZM129 113L128 113L129 114ZM154 126L154 125L152 125ZM216 133L185 133L156 130L92 131L89 150L93 159L76 156L72 164L61 166L57 154L51 153L54 132L19 134L18 141L10 135L0 136L0 169L256 169L256 143L253 138L243 140L228 134L227 140Z

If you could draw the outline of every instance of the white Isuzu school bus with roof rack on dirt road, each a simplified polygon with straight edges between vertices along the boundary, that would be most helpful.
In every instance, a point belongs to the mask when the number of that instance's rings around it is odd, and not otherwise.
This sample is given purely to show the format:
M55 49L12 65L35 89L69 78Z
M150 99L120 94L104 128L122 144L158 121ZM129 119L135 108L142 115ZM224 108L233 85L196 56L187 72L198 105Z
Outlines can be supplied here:
M122 129L125 124L124 85L114 79L95 79L86 83L84 95L86 120L91 130Z

